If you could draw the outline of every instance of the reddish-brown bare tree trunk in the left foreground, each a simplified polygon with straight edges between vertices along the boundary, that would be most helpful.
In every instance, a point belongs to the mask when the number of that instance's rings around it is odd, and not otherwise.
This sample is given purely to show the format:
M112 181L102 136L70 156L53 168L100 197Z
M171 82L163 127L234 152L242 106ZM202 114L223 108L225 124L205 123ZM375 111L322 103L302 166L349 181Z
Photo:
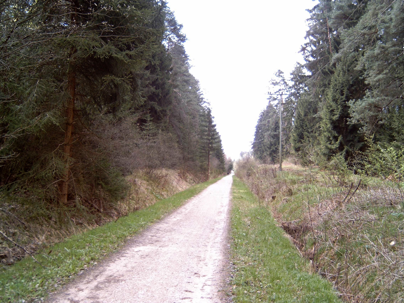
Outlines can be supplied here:
M75 49L72 50L72 57L75 53ZM65 128L65 142L64 142L64 155L63 155L63 163L64 163L64 171L62 175L62 180L60 183L60 195L61 195L61 203L66 205L67 204L67 194L68 194L68 184L69 184L69 177L70 177L70 164L69 158L71 156L71 147L73 142L73 122L74 122L74 102L76 99L76 67L74 60L71 61L69 64L69 71L68 71L68 89L69 89L69 100L67 103L66 109L66 128Z

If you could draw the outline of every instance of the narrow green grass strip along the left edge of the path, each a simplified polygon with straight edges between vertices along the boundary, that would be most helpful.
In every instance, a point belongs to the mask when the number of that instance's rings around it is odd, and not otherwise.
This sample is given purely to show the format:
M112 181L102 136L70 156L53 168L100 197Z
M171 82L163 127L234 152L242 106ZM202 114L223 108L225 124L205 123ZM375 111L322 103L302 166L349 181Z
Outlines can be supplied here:
M0 301L41 301L75 274L121 248L128 237L161 219L218 179L194 185L116 222L72 236L38 252L35 259L45 268L31 257L6 268L0 272Z

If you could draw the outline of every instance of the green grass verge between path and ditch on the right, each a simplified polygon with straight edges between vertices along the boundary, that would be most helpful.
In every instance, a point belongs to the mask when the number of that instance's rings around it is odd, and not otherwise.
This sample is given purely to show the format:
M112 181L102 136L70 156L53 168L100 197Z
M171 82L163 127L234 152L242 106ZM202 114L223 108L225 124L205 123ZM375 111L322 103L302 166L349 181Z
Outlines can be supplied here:
M281 228L234 177L231 280L235 302L340 302L331 284L308 272Z

